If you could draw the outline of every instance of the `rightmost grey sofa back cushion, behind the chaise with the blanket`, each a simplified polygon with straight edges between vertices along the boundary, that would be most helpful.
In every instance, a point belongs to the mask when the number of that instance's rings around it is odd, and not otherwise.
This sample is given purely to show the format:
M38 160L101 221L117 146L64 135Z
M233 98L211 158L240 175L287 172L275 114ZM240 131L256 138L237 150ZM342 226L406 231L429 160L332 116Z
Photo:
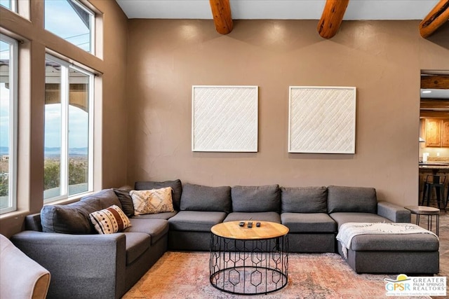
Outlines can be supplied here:
M375 188L328 186L328 212L377 214Z

